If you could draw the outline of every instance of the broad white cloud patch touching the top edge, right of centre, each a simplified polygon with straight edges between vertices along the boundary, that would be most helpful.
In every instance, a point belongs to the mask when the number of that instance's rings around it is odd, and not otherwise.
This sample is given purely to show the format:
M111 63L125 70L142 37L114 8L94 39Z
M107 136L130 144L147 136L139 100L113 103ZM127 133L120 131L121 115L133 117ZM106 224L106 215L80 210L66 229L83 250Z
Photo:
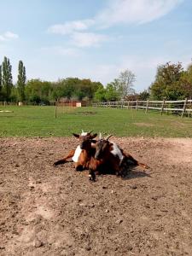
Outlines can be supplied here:
M142 24L159 19L183 0L109 0L108 7L96 15L100 27L119 23Z

